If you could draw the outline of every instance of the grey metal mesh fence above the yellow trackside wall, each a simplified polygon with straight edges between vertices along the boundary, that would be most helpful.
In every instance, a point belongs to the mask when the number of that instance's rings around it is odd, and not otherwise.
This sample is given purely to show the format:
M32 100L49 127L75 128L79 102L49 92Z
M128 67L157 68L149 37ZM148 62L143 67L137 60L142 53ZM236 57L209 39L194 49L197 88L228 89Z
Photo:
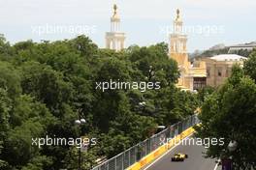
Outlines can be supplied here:
M150 138L145 139L143 142L140 142L123 153L93 167L92 170L124 170L162 146L164 144L163 138L174 138L177 134L180 134L185 129L191 128L198 123L199 119L197 115L190 116L170 128L166 128L159 133L154 134Z

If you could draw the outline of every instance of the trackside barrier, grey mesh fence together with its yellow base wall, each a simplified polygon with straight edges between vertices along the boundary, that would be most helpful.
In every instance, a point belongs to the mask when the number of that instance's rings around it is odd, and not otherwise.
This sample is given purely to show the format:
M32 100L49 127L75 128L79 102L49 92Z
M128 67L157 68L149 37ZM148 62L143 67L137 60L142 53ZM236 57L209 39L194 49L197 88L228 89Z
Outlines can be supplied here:
M158 156L167 152L171 146L171 142L165 145L163 139L175 138L183 139L193 133L193 126L198 124L197 115L188 117L187 119L176 123L170 128L166 128L143 142L133 146L123 153L112 157L111 159L92 168L92 170L138 170L144 167Z

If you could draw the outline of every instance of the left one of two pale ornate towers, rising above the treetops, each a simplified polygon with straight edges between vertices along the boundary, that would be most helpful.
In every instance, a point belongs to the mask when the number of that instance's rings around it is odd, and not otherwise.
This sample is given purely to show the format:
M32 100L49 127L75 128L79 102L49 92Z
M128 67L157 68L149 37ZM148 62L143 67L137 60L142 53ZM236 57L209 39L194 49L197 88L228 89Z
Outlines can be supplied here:
M106 48L120 51L124 48L125 33L120 32L120 17L117 14L117 6L113 5L111 17L111 32L106 33Z

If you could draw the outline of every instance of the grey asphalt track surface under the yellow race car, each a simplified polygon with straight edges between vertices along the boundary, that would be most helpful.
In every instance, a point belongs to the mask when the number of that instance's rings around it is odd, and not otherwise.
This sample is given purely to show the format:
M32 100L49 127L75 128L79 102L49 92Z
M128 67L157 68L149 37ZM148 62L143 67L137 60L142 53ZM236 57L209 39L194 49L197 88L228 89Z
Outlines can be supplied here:
M215 169L215 160L205 158L204 152L206 150L203 146L178 145L165 156L147 165L144 170L219 170L220 167ZM171 161L171 157L176 153L187 154L188 158L183 162Z

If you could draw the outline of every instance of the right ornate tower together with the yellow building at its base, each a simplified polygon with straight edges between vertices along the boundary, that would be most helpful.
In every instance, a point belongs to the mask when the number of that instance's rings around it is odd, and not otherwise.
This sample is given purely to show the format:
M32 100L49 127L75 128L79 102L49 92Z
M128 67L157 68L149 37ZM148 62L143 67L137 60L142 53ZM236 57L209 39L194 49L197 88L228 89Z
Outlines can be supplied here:
M174 32L170 35L170 58L176 60L180 73L176 86L183 90L194 91L206 85L206 63L194 61L191 64L188 60L187 36L183 34L182 26L179 10L176 10Z

